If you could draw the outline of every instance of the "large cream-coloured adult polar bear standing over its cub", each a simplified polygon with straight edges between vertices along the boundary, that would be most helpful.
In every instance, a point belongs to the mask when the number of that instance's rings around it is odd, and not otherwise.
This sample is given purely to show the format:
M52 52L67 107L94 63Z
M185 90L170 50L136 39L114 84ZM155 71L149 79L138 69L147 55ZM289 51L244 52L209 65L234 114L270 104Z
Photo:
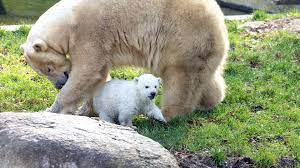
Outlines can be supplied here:
M73 113L111 67L122 65L162 77L167 120L224 98L228 34L214 0L62 0L22 48L33 69L63 86L49 109L55 113Z

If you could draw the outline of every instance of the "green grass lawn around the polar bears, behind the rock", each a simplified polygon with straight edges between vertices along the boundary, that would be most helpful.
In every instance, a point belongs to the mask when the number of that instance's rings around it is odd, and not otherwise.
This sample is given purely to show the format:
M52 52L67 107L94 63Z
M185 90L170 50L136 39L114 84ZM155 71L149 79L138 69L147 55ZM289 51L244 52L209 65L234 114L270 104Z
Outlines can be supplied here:
M222 104L167 125L143 117L134 123L139 133L169 150L206 151L219 165L231 156L251 157L256 167L276 165L283 156L299 163L300 39L284 31L247 34L238 29L239 24L227 23L231 50L225 71L227 96ZM19 45L27 33L25 27L16 32L0 31L2 112L43 110L57 94L21 56ZM111 76L132 79L141 73L140 69L126 68L112 71Z

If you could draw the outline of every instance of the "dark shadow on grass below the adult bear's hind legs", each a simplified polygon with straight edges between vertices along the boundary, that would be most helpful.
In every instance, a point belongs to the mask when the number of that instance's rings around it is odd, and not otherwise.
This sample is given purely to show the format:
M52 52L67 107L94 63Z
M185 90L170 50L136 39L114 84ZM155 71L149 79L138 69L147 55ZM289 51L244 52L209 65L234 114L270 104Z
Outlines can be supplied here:
M159 142L169 150L187 150L183 144L191 131L190 128L195 125L201 126L200 120L197 119L210 120L214 112L215 110L194 111L189 115L176 117L167 124L146 117L137 117L134 124L140 134Z

